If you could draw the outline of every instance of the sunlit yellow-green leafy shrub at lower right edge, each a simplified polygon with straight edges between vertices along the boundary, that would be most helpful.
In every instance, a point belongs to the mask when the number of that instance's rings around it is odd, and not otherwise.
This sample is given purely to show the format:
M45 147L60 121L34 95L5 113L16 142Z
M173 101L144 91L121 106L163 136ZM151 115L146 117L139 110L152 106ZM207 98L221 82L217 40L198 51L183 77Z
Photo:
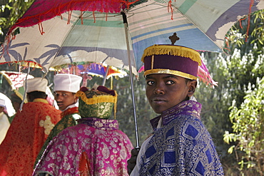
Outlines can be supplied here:
M238 144L230 147L228 152L243 151L238 154L238 162L241 172L250 169L253 174L263 175L264 171L264 77L257 78L256 85L248 86L245 100L238 108L230 107L230 120L233 123L234 133L226 132L224 140L226 143L238 141Z

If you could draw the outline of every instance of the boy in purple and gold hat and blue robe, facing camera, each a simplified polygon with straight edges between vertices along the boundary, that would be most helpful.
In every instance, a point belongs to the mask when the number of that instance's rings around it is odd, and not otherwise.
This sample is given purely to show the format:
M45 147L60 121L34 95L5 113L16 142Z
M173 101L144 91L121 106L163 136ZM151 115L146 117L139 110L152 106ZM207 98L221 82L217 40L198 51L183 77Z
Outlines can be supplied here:
M161 115L151 120L153 135L141 146L134 169L133 158L128 160L131 175L223 175L200 120L201 105L190 100L200 54L183 46L154 45L146 48L142 61L148 102Z

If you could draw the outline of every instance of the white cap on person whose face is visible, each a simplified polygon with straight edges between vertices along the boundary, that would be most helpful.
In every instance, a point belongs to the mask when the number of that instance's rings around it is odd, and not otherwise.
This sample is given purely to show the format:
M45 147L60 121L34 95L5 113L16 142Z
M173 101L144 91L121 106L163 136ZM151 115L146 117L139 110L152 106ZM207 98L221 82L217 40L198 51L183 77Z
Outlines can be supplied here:
M54 76L54 91L76 93L80 90L81 76L71 74L57 74Z

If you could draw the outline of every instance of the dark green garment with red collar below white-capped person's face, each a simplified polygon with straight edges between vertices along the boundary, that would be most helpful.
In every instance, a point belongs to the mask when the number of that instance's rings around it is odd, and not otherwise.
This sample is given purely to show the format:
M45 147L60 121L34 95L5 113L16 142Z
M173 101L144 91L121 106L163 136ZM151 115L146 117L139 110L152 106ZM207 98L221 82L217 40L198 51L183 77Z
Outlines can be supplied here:
M78 115L78 107L68 108L67 110L64 110L64 112L61 113L61 120L51 130L51 133L49 134L48 138L46 139L44 145L41 147L39 155L36 157L36 162L35 162L34 166L36 166L36 164L41 159L41 156L42 156L44 150L46 150L46 147L49 145L49 142L51 142L51 140L56 135L61 133L61 131L64 130L65 128L77 125L76 120L79 118L81 118L81 116Z

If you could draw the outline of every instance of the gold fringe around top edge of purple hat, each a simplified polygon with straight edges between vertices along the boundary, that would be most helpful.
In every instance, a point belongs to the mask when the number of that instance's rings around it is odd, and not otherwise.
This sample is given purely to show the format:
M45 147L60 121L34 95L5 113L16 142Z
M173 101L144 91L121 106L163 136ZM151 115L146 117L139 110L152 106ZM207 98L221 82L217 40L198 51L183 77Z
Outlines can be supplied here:
M168 46L168 45L153 45L144 50L141 61L144 62L146 56L153 55L172 55L181 56L184 58L191 58L191 60L198 62L199 66L202 64L200 60L200 53L191 48L183 46Z

